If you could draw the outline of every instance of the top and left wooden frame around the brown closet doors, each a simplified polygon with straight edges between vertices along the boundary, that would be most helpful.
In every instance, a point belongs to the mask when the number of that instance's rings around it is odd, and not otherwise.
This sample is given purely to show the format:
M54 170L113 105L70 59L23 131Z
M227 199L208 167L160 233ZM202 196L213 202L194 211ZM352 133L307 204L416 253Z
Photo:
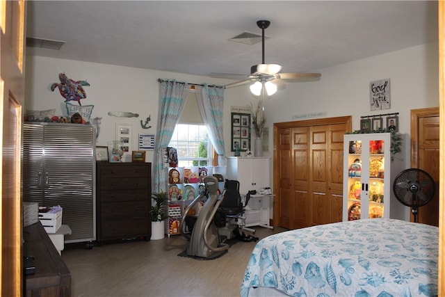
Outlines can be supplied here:
M336 118L319 118L313 120L298 120L293 122L276 122L273 124L273 164L279 164L279 156L277 152L277 147L279 146L279 137L278 133L280 129L286 128L298 128L298 127L314 127L321 125L337 125L337 124L345 124L347 131L352 131L352 115L345 115ZM276 191L277 188L280 188L280 168L277 166L273 166L273 188ZM278 200L280 200L280 193L275 192L275 197L273 199L273 219L278 218L279 209L278 209ZM275 224L272 222L272 225Z

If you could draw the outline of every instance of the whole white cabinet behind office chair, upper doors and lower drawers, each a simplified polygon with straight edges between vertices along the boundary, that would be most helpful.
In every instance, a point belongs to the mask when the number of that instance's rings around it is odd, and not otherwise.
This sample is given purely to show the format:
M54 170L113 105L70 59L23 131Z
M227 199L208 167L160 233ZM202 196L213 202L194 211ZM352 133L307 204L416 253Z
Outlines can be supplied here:
M228 157L227 179L239 182L239 192L245 201L248 191L270 187L270 159L268 157ZM251 195L245 207L245 225L270 227L272 195Z

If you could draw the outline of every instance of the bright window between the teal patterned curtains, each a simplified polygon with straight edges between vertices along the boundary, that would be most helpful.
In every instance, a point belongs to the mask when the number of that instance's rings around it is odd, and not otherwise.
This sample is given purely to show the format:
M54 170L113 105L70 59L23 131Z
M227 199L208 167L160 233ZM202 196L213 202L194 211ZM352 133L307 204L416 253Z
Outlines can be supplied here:
M178 166L211 166L211 142L205 125L177 124L169 147L178 153Z

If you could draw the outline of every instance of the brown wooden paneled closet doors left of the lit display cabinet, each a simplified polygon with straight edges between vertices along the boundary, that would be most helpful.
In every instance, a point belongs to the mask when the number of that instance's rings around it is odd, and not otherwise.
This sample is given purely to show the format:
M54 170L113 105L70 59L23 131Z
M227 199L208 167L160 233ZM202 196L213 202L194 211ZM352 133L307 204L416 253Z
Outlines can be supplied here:
M295 229L341 221L343 135L350 120L274 125L274 225Z

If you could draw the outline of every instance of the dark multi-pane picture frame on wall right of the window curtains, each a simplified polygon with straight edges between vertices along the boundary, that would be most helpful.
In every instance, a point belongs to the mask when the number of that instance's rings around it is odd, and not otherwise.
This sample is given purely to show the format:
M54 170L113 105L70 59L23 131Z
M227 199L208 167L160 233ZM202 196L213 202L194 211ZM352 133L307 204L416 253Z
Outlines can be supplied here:
M232 152L250 150L250 124L250 113L232 113Z

